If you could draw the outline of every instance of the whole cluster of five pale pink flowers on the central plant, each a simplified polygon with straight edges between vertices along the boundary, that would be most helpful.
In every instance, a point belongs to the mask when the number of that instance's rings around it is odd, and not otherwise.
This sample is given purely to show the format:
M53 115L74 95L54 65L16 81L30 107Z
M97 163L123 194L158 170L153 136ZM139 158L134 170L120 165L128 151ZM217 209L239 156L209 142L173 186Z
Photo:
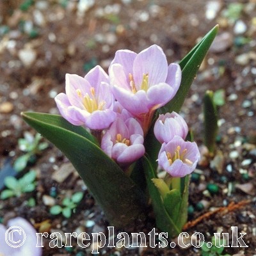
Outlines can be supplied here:
M108 73L97 66L85 77L67 74L66 94L55 100L68 122L100 132L102 150L125 169L145 154L143 142L154 112L175 96L181 70L176 63L168 65L163 49L152 45L138 54L117 51ZM182 142L175 137L184 139L187 133L186 122L176 113L156 122L156 138L163 143L159 166L171 175L177 175L177 166L186 175L197 162L198 156L191 156L196 145L178 145Z

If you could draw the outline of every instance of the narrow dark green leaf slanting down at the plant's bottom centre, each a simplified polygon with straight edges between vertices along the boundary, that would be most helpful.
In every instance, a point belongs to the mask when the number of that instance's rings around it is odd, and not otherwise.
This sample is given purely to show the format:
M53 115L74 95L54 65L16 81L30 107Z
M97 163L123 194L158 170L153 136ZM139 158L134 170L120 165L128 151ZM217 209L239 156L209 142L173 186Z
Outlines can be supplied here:
M150 161L146 156L143 157L143 166L147 180L148 191L150 193L154 213L156 215L156 225L162 232L168 232L168 237L178 236L181 232L181 229L179 229L176 223L172 221L163 205L163 200L159 194L159 191L152 182L152 179L156 179L157 177L154 173L154 170L152 169Z

